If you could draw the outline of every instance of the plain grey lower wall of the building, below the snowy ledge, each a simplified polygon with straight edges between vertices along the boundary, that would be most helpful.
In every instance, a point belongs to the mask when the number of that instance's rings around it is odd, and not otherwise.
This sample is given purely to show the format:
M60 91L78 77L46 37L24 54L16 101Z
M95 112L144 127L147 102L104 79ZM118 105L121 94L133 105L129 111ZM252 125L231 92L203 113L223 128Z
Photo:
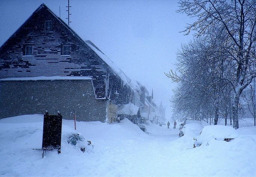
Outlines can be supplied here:
M106 101L96 100L91 80L0 81L0 119L25 114L56 114L78 121L106 118Z

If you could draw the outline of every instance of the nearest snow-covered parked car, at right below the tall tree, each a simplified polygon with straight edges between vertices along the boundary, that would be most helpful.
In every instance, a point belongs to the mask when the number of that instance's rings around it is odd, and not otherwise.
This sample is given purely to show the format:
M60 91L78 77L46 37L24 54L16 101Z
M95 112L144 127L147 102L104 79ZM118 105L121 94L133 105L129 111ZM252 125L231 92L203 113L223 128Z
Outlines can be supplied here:
M215 139L219 141L230 141L238 137L238 133L231 126L207 125L202 129L198 137L194 137L194 147L207 145L209 141Z

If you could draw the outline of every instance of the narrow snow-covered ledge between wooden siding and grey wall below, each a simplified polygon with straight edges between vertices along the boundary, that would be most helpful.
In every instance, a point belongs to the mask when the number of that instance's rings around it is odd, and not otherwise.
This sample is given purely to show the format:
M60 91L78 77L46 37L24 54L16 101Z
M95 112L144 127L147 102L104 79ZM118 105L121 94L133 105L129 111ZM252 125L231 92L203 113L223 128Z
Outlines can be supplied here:
M91 80L86 76L39 76L39 77L9 77L0 80Z

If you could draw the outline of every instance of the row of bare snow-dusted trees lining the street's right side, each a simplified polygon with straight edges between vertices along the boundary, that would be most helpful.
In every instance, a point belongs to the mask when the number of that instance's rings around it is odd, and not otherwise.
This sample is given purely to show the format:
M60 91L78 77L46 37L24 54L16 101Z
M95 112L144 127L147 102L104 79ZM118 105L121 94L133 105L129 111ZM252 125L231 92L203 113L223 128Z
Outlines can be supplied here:
M194 31L194 40L179 50L176 71L166 73L179 82L175 112L214 124L221 115L239 128L240 96L256 77L256 0L181 0L178 12L196 21L184 30Z

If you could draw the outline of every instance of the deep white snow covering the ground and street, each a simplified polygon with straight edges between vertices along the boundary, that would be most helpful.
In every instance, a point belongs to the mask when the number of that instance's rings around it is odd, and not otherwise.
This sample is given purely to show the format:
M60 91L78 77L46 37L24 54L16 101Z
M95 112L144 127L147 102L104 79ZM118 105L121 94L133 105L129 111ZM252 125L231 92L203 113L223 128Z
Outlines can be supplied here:
M230 142L193 148L199 134L193 129L179 138L178 129L150 124L147 134L124 119L77 122L75 131L74 122L63 119L61 153L42 158L41 150L32 150L42 147L42 115L1 119L0 176L256 176L256 128L246 125ZM71 132L92 141L93 150L68 144Z

